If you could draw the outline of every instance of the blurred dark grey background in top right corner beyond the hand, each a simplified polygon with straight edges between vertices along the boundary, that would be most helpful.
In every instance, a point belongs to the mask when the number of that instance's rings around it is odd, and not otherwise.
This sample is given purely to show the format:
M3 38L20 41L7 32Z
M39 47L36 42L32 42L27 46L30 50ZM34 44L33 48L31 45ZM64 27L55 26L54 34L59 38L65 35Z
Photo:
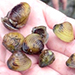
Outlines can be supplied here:
M49 6L53 7L51 0L41 0L48 4ZM66 10L62 9L62 3L59 2L59 11L66 14L67 16L75 19L75 0L67 0L67 8Z

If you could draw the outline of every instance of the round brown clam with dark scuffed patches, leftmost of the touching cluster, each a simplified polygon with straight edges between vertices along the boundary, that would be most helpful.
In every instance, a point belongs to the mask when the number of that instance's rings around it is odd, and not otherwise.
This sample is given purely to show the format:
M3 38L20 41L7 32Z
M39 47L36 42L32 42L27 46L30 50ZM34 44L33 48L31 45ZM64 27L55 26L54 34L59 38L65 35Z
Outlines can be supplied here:
M20 50L24 42L24 36L18 32L10 32L3 37L2 44L10 52Z

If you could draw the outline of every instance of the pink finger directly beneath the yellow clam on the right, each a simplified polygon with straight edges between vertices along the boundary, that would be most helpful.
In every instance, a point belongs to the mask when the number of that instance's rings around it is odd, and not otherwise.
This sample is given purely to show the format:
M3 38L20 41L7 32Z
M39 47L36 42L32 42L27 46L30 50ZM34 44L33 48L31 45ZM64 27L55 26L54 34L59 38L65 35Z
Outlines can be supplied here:
M52 30L50 30L47 47L66 56L70 56L71 54L75 53L75 40L70 43L63 42L56 37Z

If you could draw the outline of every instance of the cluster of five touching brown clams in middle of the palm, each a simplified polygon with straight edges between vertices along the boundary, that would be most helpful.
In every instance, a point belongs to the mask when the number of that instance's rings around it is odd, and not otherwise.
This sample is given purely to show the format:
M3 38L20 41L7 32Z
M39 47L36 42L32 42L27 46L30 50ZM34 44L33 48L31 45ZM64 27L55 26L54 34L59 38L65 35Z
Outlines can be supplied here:
M44 50L44 45L48 41L48 33L45 26L37 26L32 29L37 32L24 37L18 32L10 32L3 37L2 44L12 55L7 61L7 66L11 70L25 71L31 67L31 59L26 54L39 54L39 66L45 67L55 60L54 53L48 49ZM39 34L39 32L41 32Z

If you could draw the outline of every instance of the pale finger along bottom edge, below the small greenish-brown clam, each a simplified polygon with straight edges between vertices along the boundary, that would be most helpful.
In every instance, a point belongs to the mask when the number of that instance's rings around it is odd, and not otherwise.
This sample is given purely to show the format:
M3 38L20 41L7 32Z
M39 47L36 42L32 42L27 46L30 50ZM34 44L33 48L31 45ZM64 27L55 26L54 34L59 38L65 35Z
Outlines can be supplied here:
M56 72L55 70L45 67L40 68L38 64L35 64L33 68L29 69L25 73L25 75L60 75L60 73Z

